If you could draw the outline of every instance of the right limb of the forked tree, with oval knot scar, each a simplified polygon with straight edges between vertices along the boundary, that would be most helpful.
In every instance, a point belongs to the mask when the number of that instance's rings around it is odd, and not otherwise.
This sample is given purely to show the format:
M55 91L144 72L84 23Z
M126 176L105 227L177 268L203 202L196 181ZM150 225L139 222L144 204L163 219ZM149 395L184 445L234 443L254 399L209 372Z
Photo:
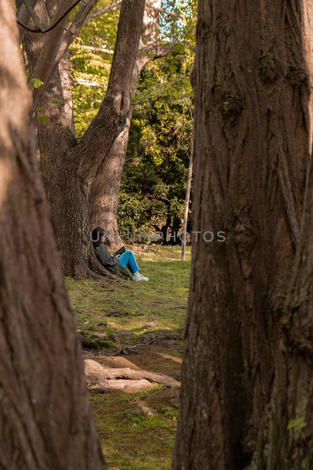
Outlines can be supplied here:
M122 1L107 93L98 114L75 148L81 155L79 174L86 190L90 189L99 165L127 122L144 6L145 0ZM94 149L93 158L91 149Z

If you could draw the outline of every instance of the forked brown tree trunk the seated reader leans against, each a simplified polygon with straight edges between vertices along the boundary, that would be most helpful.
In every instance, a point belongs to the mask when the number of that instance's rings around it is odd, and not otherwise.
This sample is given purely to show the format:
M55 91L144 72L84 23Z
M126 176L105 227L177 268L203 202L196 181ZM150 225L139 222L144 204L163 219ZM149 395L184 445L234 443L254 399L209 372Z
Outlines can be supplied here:
M45 192L53 214L63 274L78 279L106 274L95 258L89 238L90 191L99 166L127 123L143 9L144 0L122 2L107 94L79 143L72 132L71 112L66 106L51 103L52 98L66 101L60 78L62 63L40 100L40 107L49 118L47 125L38 126ZM27 53L31 55L32 49L38 51L38 42L34 38L29 42ZM33 63L36 60L35 57Z

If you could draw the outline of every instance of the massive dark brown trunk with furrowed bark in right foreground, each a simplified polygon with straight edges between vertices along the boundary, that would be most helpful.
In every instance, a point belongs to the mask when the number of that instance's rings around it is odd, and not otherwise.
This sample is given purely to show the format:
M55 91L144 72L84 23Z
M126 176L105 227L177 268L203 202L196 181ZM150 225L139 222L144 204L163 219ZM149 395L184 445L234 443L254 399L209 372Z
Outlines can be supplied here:
M193 230L226 242L192 240L175 470L313 466L312 17L198 1Z

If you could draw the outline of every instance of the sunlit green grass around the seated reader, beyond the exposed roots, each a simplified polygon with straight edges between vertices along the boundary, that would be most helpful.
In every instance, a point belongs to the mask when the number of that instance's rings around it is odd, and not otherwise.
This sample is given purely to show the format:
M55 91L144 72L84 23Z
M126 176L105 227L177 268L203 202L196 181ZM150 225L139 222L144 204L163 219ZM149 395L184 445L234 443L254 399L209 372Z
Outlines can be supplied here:
M136 344L146 330L144 325L157 322L160 328L182 328L188 298L190 247L186 261L180 259L180 247L161 247L158 253L136 254L140 270L148 282L107 282L65 278L67 290L76 313L77 328L87 332L127 331L127 343ZM121 278L119 278L121 279ZM120 316L107 316L118 311ZM99 323L114 323L98 325ZM126 340L125 337L125 340Z

